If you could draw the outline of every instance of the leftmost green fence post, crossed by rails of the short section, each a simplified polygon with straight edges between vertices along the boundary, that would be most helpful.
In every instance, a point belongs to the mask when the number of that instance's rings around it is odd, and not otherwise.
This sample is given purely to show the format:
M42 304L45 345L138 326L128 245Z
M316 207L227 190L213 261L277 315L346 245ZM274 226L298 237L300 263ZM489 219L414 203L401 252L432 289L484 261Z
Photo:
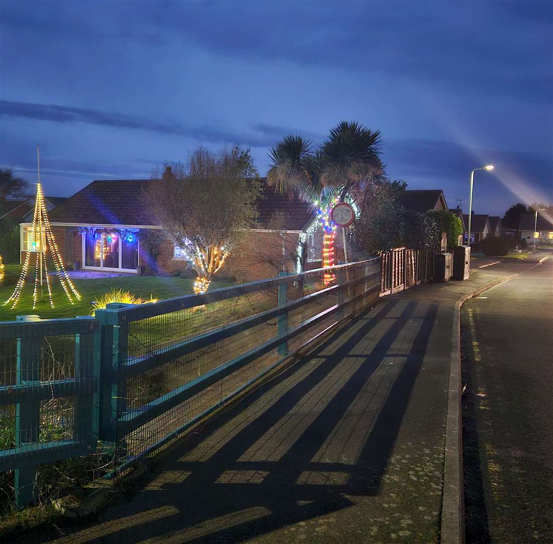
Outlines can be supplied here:
M40 321L37 315L17 316L17 321ZM17 339L17 385L38 385L40 382L40 337ZM40 432L40 400L28 399L15 405L15 446L38 442ZM36 502L36 468L14 471L15 504L26 506Z

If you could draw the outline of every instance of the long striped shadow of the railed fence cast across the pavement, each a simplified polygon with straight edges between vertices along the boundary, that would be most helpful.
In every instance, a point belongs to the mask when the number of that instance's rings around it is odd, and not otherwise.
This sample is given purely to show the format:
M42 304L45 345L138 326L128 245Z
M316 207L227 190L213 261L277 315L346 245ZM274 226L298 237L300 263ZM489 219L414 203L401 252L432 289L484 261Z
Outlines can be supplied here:
M361 313L173 448L158 478L72 538L242 542L377 494L437 308L389 299ZM392 357L403 364L389 367Z

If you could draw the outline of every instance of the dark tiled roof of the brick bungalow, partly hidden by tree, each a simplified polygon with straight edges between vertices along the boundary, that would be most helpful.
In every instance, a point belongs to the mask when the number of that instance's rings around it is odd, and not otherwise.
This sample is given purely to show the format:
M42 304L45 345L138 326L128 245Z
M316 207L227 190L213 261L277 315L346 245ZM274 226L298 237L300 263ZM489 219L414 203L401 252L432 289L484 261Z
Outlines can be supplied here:
M262 178L264 182L265 179ZM144 205L145 190L161 180L100 180L67 198L50 213L52 223L156 226L155 217ZM161 187L161 185L160 185ZM259 228L271 228L273 217L281 214L286 230L304 229L313 219L309 203L294 196L277 195L264 186L257 201ZM275 227L276 228L276 227Z

